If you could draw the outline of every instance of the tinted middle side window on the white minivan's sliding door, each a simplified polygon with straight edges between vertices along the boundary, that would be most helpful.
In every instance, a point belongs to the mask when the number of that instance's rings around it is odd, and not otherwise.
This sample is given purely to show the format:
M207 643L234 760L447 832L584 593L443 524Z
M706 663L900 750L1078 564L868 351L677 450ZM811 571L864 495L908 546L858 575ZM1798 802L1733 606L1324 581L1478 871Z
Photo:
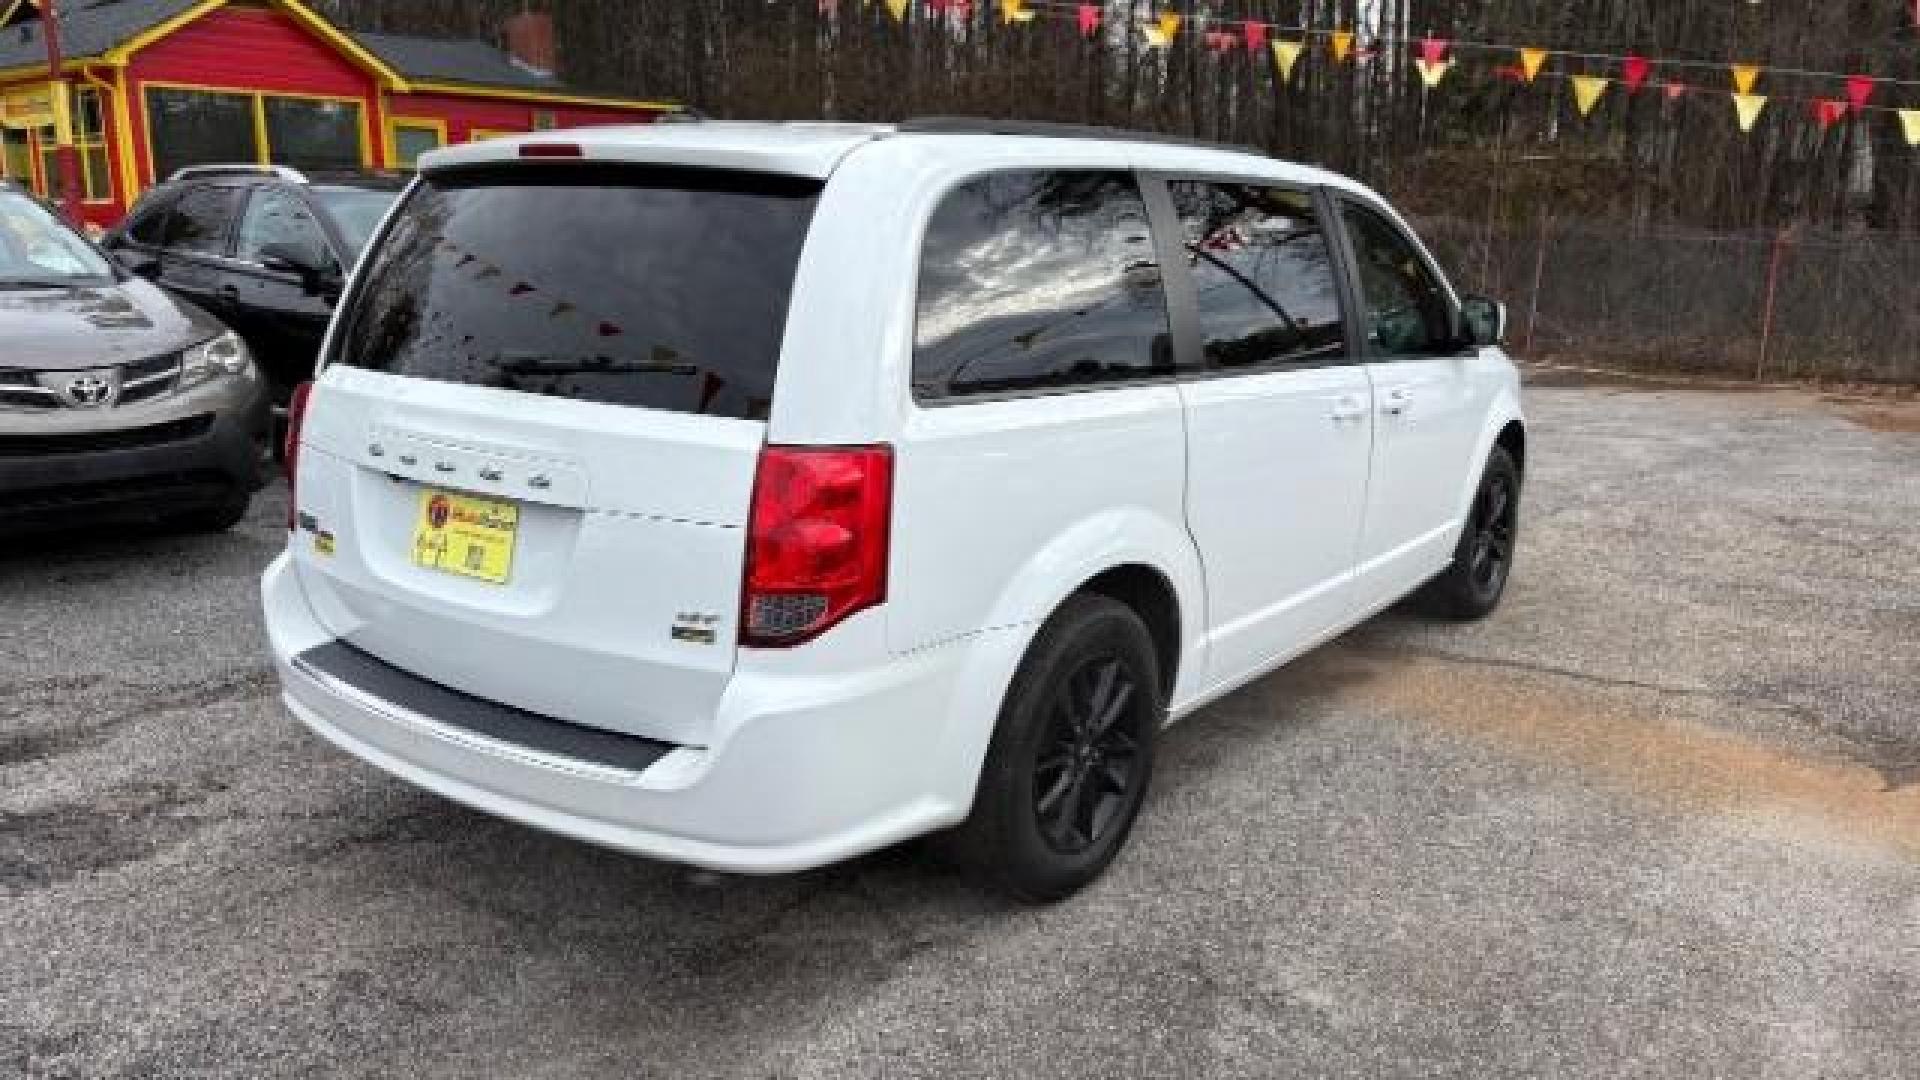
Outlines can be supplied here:
M1346 357L1332 248L1306 192L1173 183L1210 367Z

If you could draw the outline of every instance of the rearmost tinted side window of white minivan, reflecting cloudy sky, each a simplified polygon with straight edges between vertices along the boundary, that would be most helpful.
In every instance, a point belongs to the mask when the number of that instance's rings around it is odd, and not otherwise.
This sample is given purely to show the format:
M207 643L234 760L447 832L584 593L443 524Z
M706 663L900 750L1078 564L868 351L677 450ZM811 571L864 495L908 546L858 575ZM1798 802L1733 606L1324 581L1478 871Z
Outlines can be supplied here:
M954 188L920 256L924 402L1171 375L1167 302L1131 173L995 173Z

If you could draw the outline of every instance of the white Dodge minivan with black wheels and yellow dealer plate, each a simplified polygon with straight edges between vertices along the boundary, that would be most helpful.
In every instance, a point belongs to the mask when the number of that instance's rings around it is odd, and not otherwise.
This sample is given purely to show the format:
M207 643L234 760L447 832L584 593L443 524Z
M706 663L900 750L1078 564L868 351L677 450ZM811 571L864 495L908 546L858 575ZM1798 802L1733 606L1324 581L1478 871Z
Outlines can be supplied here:
M1482 617L1503 311L1359 184L985 121L430 154L292 415L288 707L526 824L1029 899L1165 723L1425 586Z

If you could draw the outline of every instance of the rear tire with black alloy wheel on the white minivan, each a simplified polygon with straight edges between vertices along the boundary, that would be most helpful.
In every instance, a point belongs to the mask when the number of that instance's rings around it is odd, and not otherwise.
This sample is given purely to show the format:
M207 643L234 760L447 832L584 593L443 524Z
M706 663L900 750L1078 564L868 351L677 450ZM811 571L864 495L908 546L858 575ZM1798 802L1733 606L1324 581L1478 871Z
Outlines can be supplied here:
M1131 607L1075 596L1021 661L973 815L956 846L1020 899L1050 903L1094 878L1133 832L1165 717L1154 640Z

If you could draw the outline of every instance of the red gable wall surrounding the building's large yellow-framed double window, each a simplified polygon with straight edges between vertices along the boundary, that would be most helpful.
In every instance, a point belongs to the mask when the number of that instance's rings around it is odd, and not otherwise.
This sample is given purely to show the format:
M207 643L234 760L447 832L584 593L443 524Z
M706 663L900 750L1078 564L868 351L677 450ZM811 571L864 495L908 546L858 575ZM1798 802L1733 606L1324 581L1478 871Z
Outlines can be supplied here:
M380 163L386 117L372 75L309 35L280 12L221 8L136 52L127 69L132 100L132 142L142 184L154 183L146 148L146 83L190 83L230 90L265 90L359 98Z

